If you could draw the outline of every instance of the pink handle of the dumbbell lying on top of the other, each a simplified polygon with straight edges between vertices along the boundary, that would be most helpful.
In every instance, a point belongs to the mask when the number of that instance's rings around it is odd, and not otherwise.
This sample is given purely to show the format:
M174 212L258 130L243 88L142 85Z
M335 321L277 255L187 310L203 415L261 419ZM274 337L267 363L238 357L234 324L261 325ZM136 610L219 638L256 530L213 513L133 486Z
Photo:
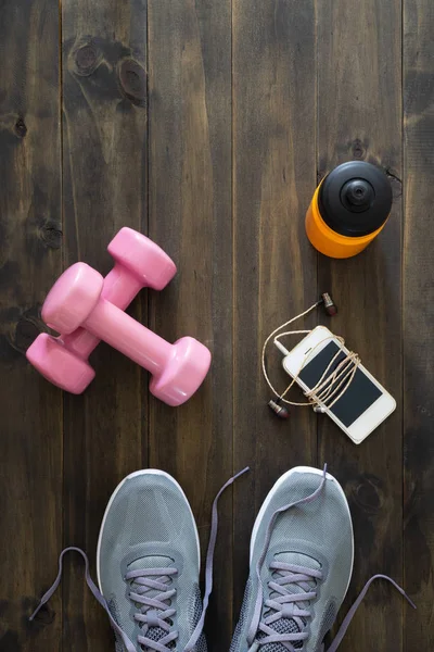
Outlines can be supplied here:
M84 328L146 368L152 375L164 371L174 352L173 344L106 299L100 298L84 323Z

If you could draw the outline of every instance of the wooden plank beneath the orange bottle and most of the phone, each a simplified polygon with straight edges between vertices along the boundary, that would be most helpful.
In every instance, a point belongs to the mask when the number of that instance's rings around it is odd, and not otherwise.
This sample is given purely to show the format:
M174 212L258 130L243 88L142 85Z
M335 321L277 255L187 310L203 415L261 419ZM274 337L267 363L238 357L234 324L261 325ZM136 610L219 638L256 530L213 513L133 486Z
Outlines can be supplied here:
M321 462L343 484L355 526L355 572L341 619L374 573L401 580L400 9L400 0L318 3L320 176L344 161L370 161L394 175L396 196L385 231L366 252L347 261L320 256L320 284L340 308L334 333L398 402L395 414L358 448L332 422L319 422ZM401 610L397 593L373 587L343 652L403 650Z

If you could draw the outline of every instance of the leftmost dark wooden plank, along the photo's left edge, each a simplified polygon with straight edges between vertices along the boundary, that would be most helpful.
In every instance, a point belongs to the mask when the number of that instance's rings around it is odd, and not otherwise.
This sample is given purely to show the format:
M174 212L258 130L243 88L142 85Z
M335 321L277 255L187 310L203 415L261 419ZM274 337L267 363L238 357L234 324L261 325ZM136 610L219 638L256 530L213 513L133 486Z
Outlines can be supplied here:
M2 2L0 42L0 649L42 652L61 597L27 617L62 544L62 396L24 353L61 268L59 3Z

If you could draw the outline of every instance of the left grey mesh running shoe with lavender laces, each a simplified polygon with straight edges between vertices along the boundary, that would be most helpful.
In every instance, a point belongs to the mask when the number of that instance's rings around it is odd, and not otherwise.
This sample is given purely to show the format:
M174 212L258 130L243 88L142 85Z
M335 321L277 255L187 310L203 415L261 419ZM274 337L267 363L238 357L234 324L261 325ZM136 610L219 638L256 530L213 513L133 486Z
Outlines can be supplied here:
M143 638L183 651L202 614L200 553L189 503L170 476L144 471L116 489L101 527L97 565L112 616L138 652L154 651L140 642ZM175 638L164 643L165 637ZM124 652L119 639L116 645ZM203 635L194 652L206 652Z

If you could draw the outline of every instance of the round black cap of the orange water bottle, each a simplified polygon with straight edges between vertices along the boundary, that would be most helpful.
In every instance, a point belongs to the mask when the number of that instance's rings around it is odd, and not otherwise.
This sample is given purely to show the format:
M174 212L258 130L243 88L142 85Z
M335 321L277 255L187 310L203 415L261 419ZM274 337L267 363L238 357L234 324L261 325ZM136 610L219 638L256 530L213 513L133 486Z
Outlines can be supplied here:
M318 195L322 220L342 236L368 236L380 228L392 208L392 187L379 167L365 161L339 165Z

